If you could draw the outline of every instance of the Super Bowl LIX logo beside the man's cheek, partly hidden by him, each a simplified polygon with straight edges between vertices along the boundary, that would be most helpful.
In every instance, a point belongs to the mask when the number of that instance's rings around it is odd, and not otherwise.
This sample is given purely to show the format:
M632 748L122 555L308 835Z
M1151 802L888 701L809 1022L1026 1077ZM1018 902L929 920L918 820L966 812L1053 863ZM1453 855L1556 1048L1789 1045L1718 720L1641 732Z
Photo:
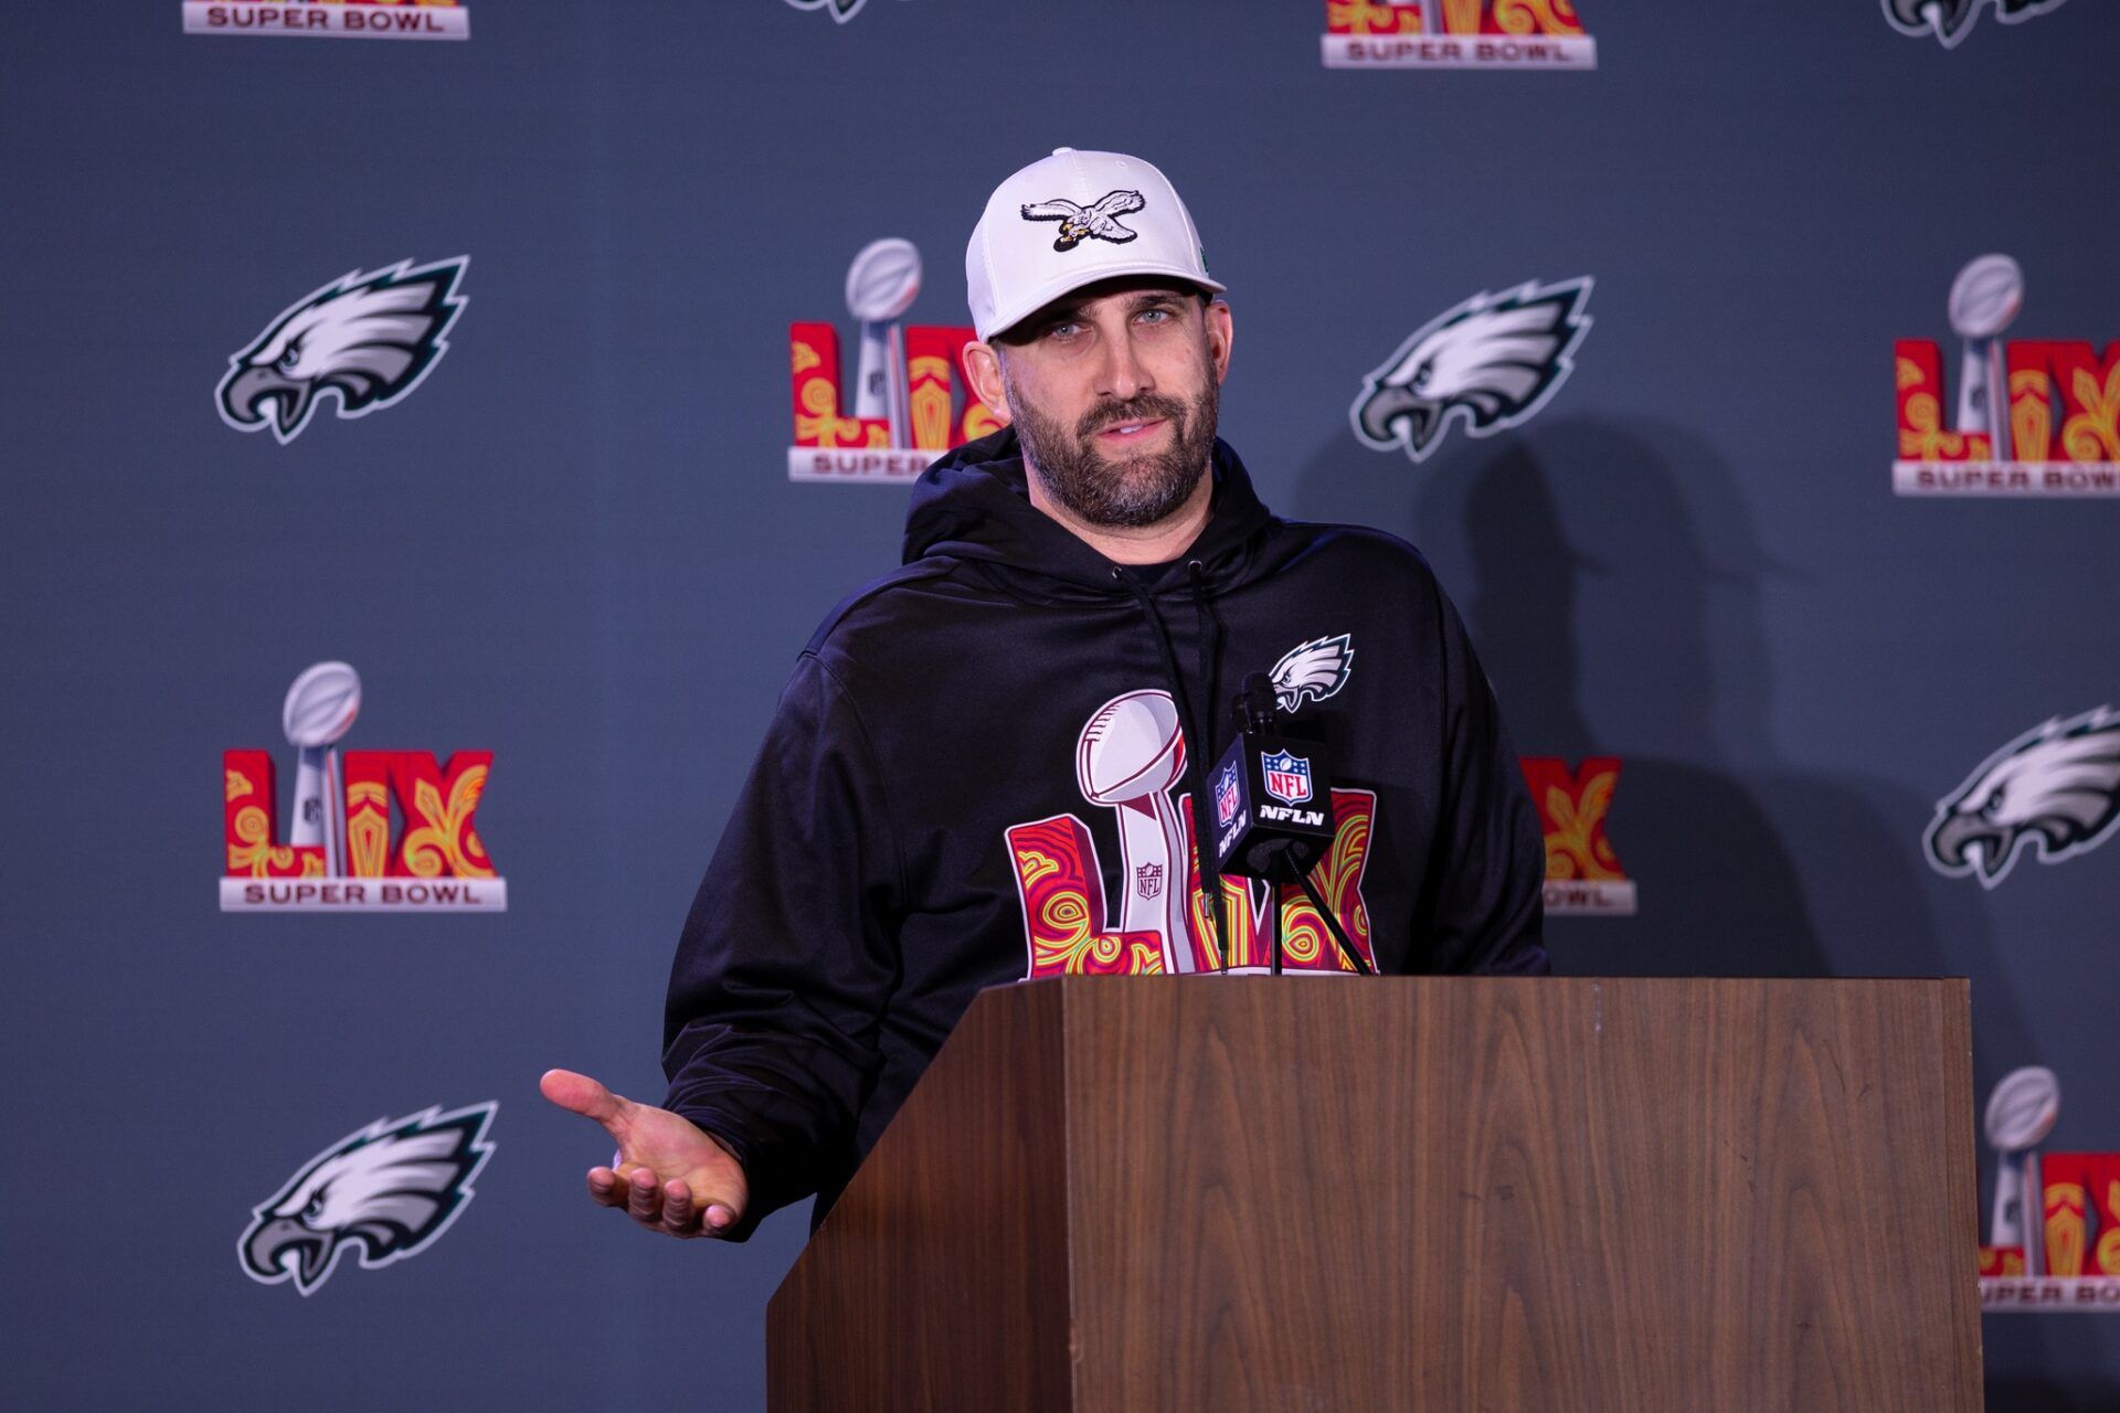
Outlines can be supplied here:
M901 324L920 294L920 252L905 239L863 246L846 271L846 311L861 330L848 405L840 330L789 324L795 445L789 481L914 481L937 455L1001 424L969 386L969 326Z

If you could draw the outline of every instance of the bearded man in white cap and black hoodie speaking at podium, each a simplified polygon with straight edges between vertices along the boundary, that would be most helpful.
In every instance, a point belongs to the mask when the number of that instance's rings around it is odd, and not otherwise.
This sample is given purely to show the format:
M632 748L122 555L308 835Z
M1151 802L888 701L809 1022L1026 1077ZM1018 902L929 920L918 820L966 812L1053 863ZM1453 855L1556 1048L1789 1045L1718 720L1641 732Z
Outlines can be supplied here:
M651 1231L742 1239L810 1193L820 1220L990 985L1548 970L1537 816L1465 627L1410 544L1274 517L1215 436L1232 311L1164 174L1060 148L965 265L1003 430L920 477L903 566L799 655L678 941L664 1106L543 1080L619 1146L591 1199ZM1257 674L1306 879L1202 847Z

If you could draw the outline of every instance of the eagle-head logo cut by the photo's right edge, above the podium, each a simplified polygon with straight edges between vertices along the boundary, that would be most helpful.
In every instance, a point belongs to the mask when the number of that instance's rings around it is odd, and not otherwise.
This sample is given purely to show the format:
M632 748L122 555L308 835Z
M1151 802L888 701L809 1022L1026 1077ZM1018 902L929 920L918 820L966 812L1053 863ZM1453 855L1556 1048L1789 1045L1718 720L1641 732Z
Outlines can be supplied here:
M2120 714L2097 708L2033 727L1982 761L1936 803L1923 852L1938 873L1972 873L1995 888L2025 849L2059 864L2099 847L2116 826Z

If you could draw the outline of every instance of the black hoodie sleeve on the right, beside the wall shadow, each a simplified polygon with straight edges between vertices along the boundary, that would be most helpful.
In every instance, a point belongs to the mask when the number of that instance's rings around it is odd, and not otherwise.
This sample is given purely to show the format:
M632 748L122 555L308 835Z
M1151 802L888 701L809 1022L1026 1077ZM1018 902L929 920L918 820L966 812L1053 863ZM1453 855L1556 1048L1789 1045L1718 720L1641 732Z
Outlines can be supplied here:
M1442 818L1414 936L1431 972L1545 974L1545 837L1465 623L1439 602Z

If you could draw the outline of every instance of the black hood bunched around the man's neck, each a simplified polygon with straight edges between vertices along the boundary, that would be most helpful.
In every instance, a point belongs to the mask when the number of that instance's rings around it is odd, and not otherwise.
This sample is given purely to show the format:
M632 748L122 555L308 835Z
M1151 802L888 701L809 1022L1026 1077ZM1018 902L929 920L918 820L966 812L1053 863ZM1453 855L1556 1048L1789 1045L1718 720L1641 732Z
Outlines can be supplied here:
M905 564L971 559L1039 600L1128 597L1105 555L1030 504L1026 475L1015 428L969 441L929 466L905 513ZM1219 436L1213 475L1215 502L1185 559L1200 561L1208 589L1221 593L1261 572L1257 549L1274 517Z

